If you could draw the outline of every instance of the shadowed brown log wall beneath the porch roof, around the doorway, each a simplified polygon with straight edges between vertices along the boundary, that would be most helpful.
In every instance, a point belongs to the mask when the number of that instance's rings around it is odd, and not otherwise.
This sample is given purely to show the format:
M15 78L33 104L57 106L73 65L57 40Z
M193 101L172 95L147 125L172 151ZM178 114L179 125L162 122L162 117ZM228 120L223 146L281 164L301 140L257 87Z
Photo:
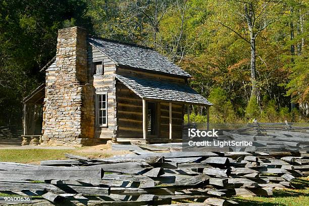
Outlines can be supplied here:
M143 138L142 100L124 84L117 82L117 116L118 138ZM159 105L160 104L160 105ZM157 117L160 122L157 134L160 138L169 138L169 103L157 102L160 111ZM172 104L172 138L181 139L183 123L183 105ZM147 136L152 138L153 136ZM154 137L156 138L156 137Z

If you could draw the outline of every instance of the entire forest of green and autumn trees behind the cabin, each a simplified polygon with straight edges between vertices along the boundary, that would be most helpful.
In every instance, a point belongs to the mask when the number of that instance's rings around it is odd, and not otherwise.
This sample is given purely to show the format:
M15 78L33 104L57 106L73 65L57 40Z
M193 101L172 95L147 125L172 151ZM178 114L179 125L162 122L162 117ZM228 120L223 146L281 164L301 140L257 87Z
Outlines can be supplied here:
M309 116L309 2L304 0L0 0L0 126L22 125L22 100L44 81L57 31L152 47L189 72L212 122ZM205 109L191 107L191 120Z

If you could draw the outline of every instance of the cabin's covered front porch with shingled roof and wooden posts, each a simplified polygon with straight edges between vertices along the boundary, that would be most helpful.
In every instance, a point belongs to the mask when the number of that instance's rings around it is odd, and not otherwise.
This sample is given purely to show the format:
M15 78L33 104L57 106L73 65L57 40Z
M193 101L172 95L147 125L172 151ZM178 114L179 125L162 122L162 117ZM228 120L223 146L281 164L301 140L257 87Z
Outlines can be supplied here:
M150 80L118 74L116 78L121 84L137 95L138 100L136 102L141 100L141 105L132 103L138 106L138 108L134 107L132 109L132 113L136 112L142 115L141 117L137 116L136 119L131 119L131 121L141 122L141 125L137 126L136 131L141 129L142 136L139 137L139 134L137 134L136 136L139 138L129 138L119 137L118 135L114 139L115 142L181 142L184 110L186 108L186 118L190 122L191 105L204 106L207 109L207 128L209 128L209 108L212 104L189 86L174 84L170 81ZM124 118L121 115L118 115L118 117ZM117 132L121 134L121 126Z

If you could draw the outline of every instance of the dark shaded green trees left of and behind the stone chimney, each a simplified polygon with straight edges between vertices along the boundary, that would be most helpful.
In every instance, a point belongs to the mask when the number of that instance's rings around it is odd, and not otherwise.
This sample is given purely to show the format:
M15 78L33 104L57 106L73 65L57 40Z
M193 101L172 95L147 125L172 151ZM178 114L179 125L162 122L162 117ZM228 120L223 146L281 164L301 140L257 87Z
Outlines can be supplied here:
M57 31L92 31L83 0L0 1L0 126L21 127L22 103L44 80L38 71L55 56Z

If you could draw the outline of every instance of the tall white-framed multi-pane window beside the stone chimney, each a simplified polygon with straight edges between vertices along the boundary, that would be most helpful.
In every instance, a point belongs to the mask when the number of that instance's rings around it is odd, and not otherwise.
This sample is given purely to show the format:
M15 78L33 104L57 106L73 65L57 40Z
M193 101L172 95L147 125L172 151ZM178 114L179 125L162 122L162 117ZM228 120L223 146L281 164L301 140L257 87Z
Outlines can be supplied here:
M96 119L98 126L107 126L107 94L96 95Z

